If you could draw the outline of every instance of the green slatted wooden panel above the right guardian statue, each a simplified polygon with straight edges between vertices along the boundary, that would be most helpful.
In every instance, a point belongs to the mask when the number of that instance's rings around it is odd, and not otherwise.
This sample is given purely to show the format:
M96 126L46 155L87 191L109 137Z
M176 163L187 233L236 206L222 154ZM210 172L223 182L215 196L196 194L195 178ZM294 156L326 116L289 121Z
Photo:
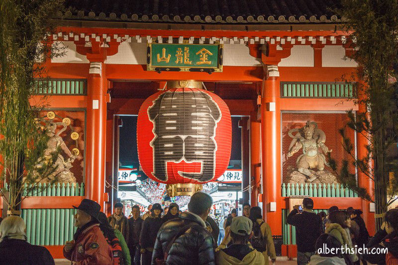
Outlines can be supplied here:
M351 84L319 84L319 83L281 83L282 97L325 97L352 98L355 91Z

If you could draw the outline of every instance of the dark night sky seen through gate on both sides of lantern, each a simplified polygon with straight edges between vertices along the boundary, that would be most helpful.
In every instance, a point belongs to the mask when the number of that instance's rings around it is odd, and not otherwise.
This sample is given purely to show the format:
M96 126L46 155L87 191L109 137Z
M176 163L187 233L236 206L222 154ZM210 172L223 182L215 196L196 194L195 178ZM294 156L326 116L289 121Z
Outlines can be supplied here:
M122 166L138 167L137 154L137 116L121 116L119 158ZM241 160L240 117L232 117L232 150L231 160Z

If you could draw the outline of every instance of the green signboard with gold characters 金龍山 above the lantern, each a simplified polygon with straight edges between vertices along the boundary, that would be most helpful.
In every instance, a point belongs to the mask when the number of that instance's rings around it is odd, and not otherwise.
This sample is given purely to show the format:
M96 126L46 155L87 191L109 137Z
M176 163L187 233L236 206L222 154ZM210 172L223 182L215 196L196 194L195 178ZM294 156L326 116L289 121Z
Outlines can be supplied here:
M222 44L148 43L147 70L222 72Z

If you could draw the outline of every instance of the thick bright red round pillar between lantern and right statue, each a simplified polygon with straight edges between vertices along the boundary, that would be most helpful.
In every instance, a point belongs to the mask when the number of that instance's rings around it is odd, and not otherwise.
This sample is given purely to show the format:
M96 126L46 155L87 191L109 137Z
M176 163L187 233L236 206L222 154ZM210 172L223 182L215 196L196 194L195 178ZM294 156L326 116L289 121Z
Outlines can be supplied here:
M273 235L282 235L280 80L276 66L267 66L261 100L263 213ZM271 203L276 210L271 211Z

